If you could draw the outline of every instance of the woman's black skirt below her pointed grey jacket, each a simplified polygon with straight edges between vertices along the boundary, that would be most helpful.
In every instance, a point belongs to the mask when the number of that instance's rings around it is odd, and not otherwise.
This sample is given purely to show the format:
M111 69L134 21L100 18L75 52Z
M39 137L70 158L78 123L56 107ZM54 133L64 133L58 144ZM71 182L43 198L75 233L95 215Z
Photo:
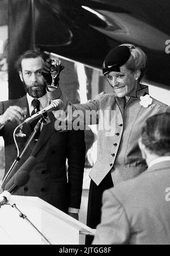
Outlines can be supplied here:
M102 195L103 192L109 188L113 187L113 181L111 172L103 179L103 181L96 185L94 181L91 180L90 190L88 195L88 209L87 209L87 226L95 229L96 226L101 221L101 207L102 207ZM86 245L91 245L94 240L94 236L86 236Z

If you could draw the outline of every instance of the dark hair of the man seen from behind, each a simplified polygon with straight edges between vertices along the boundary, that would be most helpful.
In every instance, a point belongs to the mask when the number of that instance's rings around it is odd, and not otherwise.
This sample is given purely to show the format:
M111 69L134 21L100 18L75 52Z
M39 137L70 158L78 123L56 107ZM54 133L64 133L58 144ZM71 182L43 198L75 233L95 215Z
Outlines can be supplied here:
M170 113L154 115L146 120L142 143L151 153L170 156Z

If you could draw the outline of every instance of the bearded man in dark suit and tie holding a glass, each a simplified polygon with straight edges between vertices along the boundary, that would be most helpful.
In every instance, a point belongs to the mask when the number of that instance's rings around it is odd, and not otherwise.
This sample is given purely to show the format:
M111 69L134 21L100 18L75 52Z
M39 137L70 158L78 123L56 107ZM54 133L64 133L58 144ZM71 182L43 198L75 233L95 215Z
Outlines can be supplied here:
M38 51L27 51L20 56L16 66L26 95L20 99L0 102L0 135L5 141L5 175L16 159L14 129L24 117L27 118L50 104L46 95L46 81L42 76L44 62L44 56ZM54 128L55 121L50 112L47 124L41 125L40 133L36 134L35 140L19 161L15 171L29 156L36 157L37 163L31 171L29 182L14 194L37 196L78 219L85 161L84 132L58 132ZM20 152L34 127L34 121L23 125L25 136L16 138Z

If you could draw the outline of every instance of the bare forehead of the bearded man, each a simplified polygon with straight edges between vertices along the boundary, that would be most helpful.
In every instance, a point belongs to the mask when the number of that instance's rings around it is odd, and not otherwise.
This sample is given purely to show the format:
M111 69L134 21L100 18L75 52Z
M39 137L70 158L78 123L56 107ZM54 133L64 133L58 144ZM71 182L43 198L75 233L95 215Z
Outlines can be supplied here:
M44 60L41 56L36 58L23 58L21 62L22 69L24 70L32 69L32 68L41 69L43 64L44 64Z

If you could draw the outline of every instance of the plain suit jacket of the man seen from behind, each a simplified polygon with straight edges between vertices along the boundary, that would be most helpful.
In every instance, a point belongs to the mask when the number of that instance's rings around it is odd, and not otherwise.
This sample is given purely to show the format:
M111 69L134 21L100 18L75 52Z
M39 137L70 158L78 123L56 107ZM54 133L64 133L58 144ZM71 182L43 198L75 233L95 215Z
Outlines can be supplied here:
M106 190L93 244L170 244L169 187L170 161L164 161Z

